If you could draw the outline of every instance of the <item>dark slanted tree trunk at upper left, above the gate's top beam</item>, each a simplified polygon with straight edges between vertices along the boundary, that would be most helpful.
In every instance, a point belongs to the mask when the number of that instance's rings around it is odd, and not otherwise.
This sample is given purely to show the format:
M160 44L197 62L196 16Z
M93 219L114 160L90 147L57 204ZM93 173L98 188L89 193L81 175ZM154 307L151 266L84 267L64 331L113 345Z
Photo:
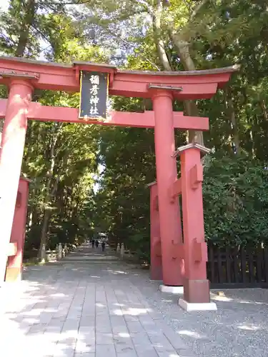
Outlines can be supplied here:
M31 25L34 23L34 16L35 16L35 0L28 0L25 5L25 16L24 16L24 23L21 24L21 32L19 34L19 42L18 46L16 47L15 56L16 57L23 57L24 52L29 40L29 34Z

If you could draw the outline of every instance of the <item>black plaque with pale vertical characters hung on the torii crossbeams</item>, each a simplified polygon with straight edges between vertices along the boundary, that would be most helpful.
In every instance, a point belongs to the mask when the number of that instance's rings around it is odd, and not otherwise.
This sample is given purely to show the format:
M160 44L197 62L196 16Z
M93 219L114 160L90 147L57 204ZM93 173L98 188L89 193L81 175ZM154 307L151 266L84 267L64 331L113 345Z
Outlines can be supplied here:
M80 119L106 119L108 74L81 71Z

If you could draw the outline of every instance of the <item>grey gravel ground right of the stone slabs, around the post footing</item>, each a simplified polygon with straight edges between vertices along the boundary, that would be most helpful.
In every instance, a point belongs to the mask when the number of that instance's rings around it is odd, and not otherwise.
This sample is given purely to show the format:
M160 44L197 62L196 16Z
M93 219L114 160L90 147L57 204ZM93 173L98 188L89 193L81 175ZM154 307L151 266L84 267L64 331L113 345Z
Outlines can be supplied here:
M268 356L268 290L224 290L224 296L212 291L218 311L187 313L177 306L179 296L161 293L147 271L129 279L197 356Z

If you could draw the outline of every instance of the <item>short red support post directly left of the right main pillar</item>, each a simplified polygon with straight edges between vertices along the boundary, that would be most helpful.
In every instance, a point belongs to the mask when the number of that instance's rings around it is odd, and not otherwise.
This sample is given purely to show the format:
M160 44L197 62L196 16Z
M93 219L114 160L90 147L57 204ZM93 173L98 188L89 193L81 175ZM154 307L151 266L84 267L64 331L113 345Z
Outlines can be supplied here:
M157 183L149 183L150 188L150 278L162 281L161 238L158 211Z

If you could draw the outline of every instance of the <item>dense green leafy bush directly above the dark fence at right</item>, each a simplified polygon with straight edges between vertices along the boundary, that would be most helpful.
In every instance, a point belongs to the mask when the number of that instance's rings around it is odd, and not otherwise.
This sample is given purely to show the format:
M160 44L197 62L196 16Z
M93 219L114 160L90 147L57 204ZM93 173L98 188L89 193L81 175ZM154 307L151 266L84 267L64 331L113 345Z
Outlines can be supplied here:
M267 243L268 171L262 162L245 153L209 157L203 194L208 241L217 246Z

